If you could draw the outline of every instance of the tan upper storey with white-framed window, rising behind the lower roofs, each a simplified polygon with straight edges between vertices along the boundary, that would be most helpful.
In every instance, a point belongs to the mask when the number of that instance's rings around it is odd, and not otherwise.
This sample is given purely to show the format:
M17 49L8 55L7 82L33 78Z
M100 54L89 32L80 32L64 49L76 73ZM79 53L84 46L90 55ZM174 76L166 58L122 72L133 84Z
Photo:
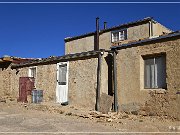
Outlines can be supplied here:
M139 39L156 37L172 32L151 17L142 20L105 28L99 31L99 48L109 50L113 44L128 43ZM68 37L65 41L65 54L96 50L96 32Z

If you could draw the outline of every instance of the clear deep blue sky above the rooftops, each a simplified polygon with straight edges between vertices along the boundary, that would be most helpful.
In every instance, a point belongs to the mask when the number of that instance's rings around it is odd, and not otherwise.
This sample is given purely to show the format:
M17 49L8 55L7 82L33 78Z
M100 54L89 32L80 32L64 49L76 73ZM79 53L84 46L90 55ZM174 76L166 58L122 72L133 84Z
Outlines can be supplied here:
M111 27L151 16L174 31L180 30L180 3L0 3L0 57L5 54L31 58L63 55L64 38L95 31L97 16L101 28L104 21Z

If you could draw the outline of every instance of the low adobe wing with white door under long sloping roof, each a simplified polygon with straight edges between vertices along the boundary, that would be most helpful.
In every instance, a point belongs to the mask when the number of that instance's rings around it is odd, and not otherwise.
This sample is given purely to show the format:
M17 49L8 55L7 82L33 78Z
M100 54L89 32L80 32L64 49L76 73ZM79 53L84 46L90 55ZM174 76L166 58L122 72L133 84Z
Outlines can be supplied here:
M95 109L97 87L106 92L108 80L105 50L50 57L19 64L11 68L18 74L35 78L35 88L43 90L43 101ZM98 68L98 57L101 69ZM21 75L20 75L21 76ZM101 81L98 81L101 80ZM100 95L99 95L100 96Z

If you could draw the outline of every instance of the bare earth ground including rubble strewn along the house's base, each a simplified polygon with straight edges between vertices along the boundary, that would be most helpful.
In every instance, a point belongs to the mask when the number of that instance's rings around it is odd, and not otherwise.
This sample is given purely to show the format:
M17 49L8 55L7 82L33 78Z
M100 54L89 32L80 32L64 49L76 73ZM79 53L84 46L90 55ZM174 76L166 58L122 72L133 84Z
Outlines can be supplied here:
M0 102L0 134L180 134L180 121L6 101Z

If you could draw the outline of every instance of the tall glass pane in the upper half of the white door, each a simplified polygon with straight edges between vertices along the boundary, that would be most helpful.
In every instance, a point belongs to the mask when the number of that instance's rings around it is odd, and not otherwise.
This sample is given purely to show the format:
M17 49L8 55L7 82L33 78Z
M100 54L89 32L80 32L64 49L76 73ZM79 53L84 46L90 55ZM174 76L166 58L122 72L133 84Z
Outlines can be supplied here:
M67 65L60 65L59 66L59 79L58 83L60 85L66 85L66 73L67 73Z

